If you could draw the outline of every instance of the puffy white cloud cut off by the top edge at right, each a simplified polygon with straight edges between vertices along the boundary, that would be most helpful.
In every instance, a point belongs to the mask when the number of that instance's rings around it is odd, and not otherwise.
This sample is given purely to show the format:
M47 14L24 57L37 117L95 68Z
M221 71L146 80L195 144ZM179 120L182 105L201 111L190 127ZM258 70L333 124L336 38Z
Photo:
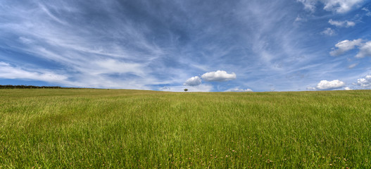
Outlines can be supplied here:
M351 11L352 8L355 8L363 2L364 0L297 0L303 3L304 8L308 11L315 11L315 5L317 2L324 4L323 9L326 11L333 11L336 13L346 13Z

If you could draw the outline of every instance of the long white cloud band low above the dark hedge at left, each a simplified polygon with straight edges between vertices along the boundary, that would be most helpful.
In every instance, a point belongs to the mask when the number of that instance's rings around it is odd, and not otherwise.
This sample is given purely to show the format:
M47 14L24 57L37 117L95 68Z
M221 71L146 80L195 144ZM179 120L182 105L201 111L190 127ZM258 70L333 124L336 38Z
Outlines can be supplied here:
M15 68L8 63L0 62L0 78L41 80L44 82L63 82L64 80L67 80L68 77L65 75L51 73L49 71L36 71Z

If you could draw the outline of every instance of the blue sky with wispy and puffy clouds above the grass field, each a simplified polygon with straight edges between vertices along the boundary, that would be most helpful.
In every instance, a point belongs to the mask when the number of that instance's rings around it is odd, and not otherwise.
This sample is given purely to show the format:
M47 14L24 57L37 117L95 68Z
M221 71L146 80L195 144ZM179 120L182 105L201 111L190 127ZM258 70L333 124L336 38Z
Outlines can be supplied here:
M371 2L0 0L0 84L371 88Z

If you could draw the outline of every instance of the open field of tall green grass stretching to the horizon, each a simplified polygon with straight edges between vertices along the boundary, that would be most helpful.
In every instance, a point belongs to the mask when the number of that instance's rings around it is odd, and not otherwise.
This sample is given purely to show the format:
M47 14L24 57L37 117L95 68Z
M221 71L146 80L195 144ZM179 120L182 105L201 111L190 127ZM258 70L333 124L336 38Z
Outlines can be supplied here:
M371 168L371 91L0 89L0 168Z

